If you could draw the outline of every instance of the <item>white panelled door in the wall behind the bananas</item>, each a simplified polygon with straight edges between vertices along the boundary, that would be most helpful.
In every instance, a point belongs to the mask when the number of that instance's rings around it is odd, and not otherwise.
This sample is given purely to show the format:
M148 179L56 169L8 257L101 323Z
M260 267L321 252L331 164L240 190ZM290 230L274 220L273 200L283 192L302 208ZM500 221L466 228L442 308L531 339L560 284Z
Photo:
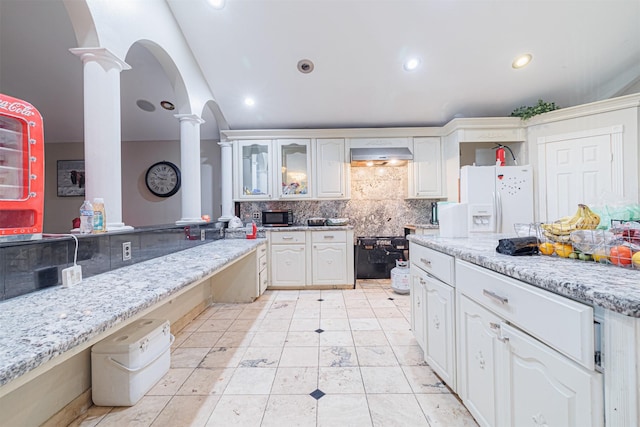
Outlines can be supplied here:
M596 204L613 191L612 159L610 135L545 144L547 212L541 220L573 215L579 203Z

